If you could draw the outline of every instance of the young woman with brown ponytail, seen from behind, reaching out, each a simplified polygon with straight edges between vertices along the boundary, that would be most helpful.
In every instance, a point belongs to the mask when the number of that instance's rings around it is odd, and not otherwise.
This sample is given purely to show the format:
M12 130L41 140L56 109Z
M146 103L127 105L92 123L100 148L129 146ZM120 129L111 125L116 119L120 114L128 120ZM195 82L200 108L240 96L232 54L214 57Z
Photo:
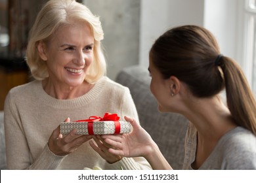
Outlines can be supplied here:
M175 27L156 40L149 58L158 109L190 121L183 169L256 169L255 98L213 35L195 25ZM224 88L226 103L219 97ZM130 134L100 137L117 148L108 151L143 156L153 169L171 169L150 135L133 118L125 119L133 125Z

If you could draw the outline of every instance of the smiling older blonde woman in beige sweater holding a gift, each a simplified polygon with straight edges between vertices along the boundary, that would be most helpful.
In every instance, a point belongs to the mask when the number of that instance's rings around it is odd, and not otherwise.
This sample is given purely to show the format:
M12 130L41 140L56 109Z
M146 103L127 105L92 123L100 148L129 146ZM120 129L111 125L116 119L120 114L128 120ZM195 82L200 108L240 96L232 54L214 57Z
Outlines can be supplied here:
M35 80L13 88L5 101L9 169L151 168L144 158L111 155L108 144L76 129L60 134L65 119L112 112L138 120L129 90L105 76L102 39L99 18L80 3L53 0L41 9L26 54Z

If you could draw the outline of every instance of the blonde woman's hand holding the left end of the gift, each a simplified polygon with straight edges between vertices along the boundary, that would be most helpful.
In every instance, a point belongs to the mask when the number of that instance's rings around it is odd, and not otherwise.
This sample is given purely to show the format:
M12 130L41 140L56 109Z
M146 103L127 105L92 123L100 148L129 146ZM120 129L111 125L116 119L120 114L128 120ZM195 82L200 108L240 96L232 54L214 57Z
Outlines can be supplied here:
M67 118L65 122L70 122L70 118ZM84 142L92 139L91 135L75 135L76 131L77 129L73 129L68 135L63 137L60 133L60 125L58 125L48 141L51 152L58 156L65 156L74 152Z

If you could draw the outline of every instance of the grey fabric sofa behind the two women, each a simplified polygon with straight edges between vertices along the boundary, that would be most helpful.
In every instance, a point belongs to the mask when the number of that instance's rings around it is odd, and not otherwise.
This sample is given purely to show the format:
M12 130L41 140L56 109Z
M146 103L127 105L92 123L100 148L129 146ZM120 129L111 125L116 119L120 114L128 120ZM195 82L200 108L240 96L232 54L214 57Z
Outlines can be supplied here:
M163 156L173 169L182 169L188 120L179 114L158 111L158 103L150 93L150 77L146 68L138 65L127 67L118 73L116 82L130 89L140 125L158 144ZM6 168L3 112L0 112L0 169Z

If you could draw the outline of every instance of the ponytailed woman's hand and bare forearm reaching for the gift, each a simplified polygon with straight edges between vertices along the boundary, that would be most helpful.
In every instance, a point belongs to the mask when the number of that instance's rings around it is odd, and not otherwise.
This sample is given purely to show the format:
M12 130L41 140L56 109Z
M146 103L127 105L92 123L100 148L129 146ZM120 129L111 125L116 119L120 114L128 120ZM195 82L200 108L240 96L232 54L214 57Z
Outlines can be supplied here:
M102 135L102 139L114 148L108 152L116 156L137 157L142 156L150 163L152 169L172 169L168 161L161 154L156 142L133 118L125 117L133 126L131 133L122 135Z

